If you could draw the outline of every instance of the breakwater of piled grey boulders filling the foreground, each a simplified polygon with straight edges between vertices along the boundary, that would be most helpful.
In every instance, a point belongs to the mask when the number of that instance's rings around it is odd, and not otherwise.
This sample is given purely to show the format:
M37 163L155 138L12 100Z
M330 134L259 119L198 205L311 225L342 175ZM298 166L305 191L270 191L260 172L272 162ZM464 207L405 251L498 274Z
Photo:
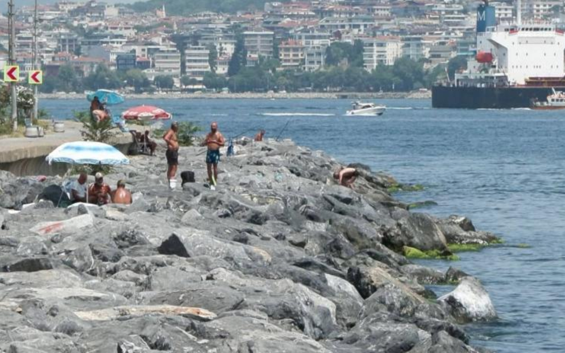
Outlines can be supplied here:
M180 151L197 179L182 190L167 190L163 158L133 157L106 177L128 180L131 206L21 210L41 184L0 175L0 351L485 351L459 326L496 318L479 281L403 254L496 238L407 211L397 182L362 165L351 190L322 152L235 147L216 191L202 147ZM458 281L439 300L424 287Z

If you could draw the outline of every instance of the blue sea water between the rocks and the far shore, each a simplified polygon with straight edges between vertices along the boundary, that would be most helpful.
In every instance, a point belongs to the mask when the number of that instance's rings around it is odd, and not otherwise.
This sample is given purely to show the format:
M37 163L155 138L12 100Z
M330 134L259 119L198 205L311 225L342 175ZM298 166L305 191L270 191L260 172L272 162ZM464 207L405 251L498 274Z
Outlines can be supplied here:
M442 270L455 265L488 289L500 320L467 326L473 344L509 353L565 351L565 112L437 110L410 99L380 101L389 107L381 117L344 116L350 101L337 99L131 100L123 108L141 103L206 128L218 121L227 137L264 128L267 137L280 134L425 185L398 197L435 201L424 212L469 216L506 240L464 252L456 263L425 262ZM43 100L40 107L63 119L88 102ZM513 246L519 243L531 247Z

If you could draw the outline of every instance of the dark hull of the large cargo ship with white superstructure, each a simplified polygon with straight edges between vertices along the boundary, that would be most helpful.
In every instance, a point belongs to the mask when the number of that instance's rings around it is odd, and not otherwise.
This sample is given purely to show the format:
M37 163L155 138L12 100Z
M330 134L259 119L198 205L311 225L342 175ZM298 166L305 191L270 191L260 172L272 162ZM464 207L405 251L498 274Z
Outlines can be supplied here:
M565 90L565 87L555 87ZM533 101L545 102L551 87L432 87L432 107L467 109L528 108Z

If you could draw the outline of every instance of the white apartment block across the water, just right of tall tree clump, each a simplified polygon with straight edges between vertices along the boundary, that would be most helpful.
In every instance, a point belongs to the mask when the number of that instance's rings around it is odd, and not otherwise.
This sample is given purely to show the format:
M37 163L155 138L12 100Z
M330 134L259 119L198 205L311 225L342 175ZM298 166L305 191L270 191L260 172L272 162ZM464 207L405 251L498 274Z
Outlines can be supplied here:
M379 65L392 65L402 56L399 37L377 37L363 40L363 64L367 71Z

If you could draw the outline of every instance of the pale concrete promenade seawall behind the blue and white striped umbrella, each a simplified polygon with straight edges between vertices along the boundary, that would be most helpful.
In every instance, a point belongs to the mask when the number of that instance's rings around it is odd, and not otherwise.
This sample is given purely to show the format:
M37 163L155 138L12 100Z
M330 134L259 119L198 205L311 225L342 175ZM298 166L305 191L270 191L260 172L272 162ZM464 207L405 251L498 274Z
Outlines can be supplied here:
M0 138L0 170L9 171L16 176L63 175L69 165L49 165L45 162L45 157L62 143L81 141L81 127L82 125L75 121L65 121L65 131L62 133L47 131L45 137ZM122 152L127 152L131 142L131 134L119 133L112 145Z

